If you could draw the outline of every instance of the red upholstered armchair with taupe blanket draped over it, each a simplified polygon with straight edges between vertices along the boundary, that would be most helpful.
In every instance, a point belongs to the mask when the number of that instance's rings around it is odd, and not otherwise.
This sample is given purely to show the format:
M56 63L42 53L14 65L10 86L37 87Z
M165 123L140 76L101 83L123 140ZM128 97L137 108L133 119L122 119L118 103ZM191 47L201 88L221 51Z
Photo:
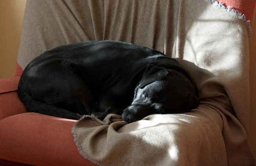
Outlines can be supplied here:
M255 166L247 22L255 0L223 2L27 0L15 76L0 80L0 164ZM198 84L200 106L131 124L27 112L16 92L25 66L84 40L132 42L177 58Z

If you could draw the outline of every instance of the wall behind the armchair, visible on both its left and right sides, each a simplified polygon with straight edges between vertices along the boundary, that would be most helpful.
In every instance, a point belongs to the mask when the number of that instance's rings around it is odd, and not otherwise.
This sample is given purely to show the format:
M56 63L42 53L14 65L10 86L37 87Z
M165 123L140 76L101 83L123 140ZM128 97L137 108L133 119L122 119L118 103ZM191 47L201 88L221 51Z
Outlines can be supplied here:
M0 78L13 76L25 4L26 0L0 0ZM252 30L250 139L256 156L256 12L252 20Z

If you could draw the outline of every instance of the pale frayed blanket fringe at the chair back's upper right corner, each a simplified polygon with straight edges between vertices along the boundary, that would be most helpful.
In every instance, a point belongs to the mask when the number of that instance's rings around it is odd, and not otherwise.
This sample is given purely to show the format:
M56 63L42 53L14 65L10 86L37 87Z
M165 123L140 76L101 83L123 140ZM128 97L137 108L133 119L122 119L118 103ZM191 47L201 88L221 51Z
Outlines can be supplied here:
M225 10L229 13L231 13L232 15L234 15L236 18L243 20L243 22L245 22L245 25L247 27L248 33L249 33L249 38L251 38L252 36L252 30L250 27L250 20L246 19L245 14L242 14L240 11L236 10L236 9L232 9L230 6L225 6L222 2L218 2L217 0L206 0L207 2L216 5L217 7L219 7L222 10Z

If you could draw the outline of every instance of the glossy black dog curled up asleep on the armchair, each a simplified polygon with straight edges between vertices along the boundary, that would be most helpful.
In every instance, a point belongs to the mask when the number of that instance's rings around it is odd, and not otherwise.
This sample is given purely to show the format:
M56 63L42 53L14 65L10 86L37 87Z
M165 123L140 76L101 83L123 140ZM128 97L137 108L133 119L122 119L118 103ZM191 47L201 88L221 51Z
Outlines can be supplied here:
M70 119L116 113L126 122L190 111L199 104L197 93L176 60L110 40L45 51L28 64L18 85L20 100L31 112Z

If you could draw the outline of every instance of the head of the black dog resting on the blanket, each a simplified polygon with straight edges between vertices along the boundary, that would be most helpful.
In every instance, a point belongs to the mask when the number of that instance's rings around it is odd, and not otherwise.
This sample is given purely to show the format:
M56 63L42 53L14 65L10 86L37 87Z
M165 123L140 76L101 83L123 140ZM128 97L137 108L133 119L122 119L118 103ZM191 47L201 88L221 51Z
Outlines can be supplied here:
M182 73L148 65L122 120L130 123L151 114L188 112L199 105L196 93L195 84Z

